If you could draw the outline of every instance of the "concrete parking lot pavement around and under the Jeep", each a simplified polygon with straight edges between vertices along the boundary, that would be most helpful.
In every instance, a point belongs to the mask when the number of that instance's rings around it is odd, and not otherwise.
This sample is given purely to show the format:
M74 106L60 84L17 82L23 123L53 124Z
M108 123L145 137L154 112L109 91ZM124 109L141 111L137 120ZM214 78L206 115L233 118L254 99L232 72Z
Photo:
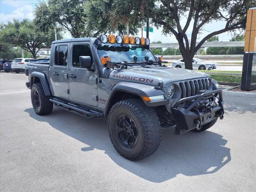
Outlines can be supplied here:
M223 120L174 135L137 162L113 148L105 119L34 113L24 73L0 72L0 191L256 191L256 98L224 96Z

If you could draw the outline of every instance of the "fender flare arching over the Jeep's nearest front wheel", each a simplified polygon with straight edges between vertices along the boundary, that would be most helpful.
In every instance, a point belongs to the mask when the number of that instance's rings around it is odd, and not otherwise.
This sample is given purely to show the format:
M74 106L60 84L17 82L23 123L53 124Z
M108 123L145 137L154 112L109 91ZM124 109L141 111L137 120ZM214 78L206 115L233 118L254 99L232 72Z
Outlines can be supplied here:
M120 82L112 88L111 93L106 102L106 108L104 110L104 114L107 114L110 108L111 100L113 99L115 93L118 91L137 95L141 99L143 96L147 96L147 97L158 96L158 95L165 96L165 93L162 90L155 89L155 87L151 85L138 84L138 83L132 83L132 82ZM169 103L169 100L166 100L166 98L164 100L155 101L155 102L147 102L143 99L142 101L146 104L146 106L150 106L150 107L166 105Z

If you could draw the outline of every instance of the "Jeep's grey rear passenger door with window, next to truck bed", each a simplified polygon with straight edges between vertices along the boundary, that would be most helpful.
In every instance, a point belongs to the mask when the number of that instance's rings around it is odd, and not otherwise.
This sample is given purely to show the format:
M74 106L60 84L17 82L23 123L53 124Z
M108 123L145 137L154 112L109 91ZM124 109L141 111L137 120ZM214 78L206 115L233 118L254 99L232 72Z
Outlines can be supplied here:
M49 70L54 96L69 98L67 64L68 45L55 46L53 65Z

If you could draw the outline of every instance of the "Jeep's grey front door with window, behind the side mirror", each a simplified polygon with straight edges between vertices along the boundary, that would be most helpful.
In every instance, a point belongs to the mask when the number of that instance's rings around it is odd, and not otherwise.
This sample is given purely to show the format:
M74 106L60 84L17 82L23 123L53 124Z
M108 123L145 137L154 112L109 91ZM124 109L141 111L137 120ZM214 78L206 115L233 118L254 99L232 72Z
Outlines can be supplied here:
M96 68L90 44L72 43L72 59L69 65L69 89L74 102L91 106L98 105L97 69L93 72L87 68L80 68L79 57L90 56L92 68Z

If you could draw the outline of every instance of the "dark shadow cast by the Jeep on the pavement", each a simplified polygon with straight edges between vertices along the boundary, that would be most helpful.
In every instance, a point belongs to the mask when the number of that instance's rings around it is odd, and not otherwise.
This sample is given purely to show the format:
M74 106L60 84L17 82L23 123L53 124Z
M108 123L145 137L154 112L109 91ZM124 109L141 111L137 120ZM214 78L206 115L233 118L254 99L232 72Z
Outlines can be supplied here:
M174 135L174 130L164 130L159 149L148 158L132 162L122 158L112 146L106 119L86 119L54 108L47 116L38 116L33 108L26 109L30 117L48 122L53 128L83 142L89 147L74 148L88 152L104 150L114 163L151 182L164 182L178 174L195 176L217 172L231 160L230 149L224 147L227 140L211 131L188 132Z

